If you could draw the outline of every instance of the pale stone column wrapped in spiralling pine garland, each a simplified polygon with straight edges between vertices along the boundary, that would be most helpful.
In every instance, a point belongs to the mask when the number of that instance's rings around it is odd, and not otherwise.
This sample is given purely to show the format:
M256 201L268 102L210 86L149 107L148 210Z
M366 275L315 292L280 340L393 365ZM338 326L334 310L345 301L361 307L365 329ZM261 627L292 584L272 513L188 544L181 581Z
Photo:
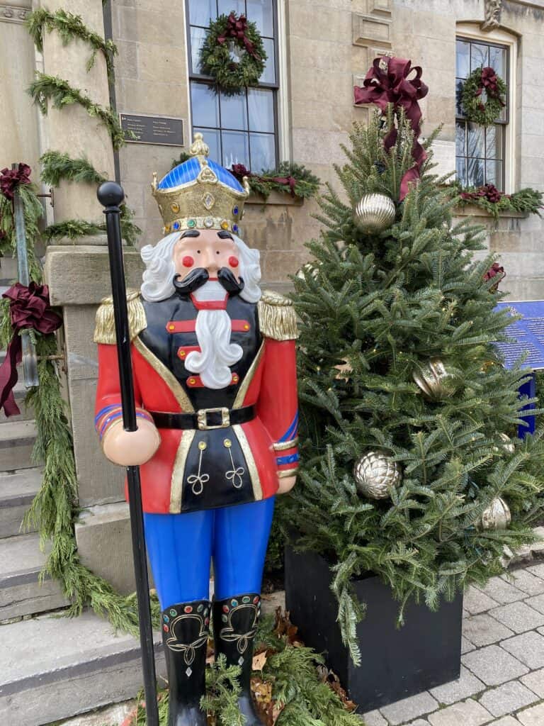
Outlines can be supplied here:
M102 0L44 0L51 12L69 9L81 15L83 23L100 36L104 36ZM62 44L56 30L44 34L44 73L58 76L90 97L94 102L109 107L106 62L101 52L96 53L94 66L87 70L92 49L83 41ZM99 118L91 118L78 104L55 109L49 104L46 116L46 148L66 152L73 158L86 157L109 179L114 178L113 149L110 134ZM55 190L54 221L84 219L102 221L102 209L96 200L94 186L62 181Z

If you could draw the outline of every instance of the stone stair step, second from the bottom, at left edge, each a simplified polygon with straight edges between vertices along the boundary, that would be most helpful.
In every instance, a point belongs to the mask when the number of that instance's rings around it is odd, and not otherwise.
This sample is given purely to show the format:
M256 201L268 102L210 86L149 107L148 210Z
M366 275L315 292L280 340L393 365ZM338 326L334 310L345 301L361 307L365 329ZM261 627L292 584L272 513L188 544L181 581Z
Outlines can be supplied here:
M38 534L0 539L0 620L44 613L68 604L58 582L49 578L39 582L45 562Z

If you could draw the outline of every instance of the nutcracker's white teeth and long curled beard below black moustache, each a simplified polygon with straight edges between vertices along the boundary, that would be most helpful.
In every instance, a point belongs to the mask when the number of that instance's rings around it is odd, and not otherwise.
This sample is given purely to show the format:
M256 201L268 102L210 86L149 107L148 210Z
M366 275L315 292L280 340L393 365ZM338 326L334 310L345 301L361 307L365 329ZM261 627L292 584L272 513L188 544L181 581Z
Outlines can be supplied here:
M206 282L193 293L197 301L224 300L225 288L217 281ZM242 348L231 343L231 318L226 310L199 310L195 328L200 352L192 351L185 367L200 375L206 388L226 388L232 380L229 366L242 358Z

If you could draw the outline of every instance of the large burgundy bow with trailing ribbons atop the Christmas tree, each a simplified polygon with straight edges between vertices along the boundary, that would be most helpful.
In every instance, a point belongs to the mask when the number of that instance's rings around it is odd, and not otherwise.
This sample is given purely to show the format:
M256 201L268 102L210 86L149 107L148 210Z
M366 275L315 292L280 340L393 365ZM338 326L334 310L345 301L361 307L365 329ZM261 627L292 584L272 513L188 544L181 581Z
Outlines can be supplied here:
M392 103L395 108L403 107L406 118L409 119L413 129L412 156L415 164L408 169L400 182L400 201L408 194L408 182L419 179L421 164L426 159L426 152L418 141L421 134L421 108L419 99L429 92L429 88L421 81L421 66L414 65L404 58L375 58L371 69L363 81L363 88L355 86L355 105L374 103L383 113L387 104ZM412 71L415 78L408 79ZM397 141L397 129L393 128L384 139L385 150L388 151Z

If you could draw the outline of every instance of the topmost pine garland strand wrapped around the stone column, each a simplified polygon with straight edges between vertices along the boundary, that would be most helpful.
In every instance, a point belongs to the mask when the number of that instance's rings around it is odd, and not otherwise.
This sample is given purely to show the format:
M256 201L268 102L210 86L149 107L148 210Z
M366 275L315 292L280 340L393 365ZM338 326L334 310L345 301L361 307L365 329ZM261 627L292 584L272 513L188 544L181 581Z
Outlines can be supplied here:
M91 70L96 60L96 53L102 52L106 61L107 74L113 76L113 58L118 53L117 46L112 40L104 40L98 33L89 30L81 15L73 15L71 12L60 8L50 12L45 7L38 8L28 15L25 25L39 52L44 52L44 31L57 30L61 37L62 44L67 45L76 39L88 43L92 48L91 57L87 62L87 71Z

